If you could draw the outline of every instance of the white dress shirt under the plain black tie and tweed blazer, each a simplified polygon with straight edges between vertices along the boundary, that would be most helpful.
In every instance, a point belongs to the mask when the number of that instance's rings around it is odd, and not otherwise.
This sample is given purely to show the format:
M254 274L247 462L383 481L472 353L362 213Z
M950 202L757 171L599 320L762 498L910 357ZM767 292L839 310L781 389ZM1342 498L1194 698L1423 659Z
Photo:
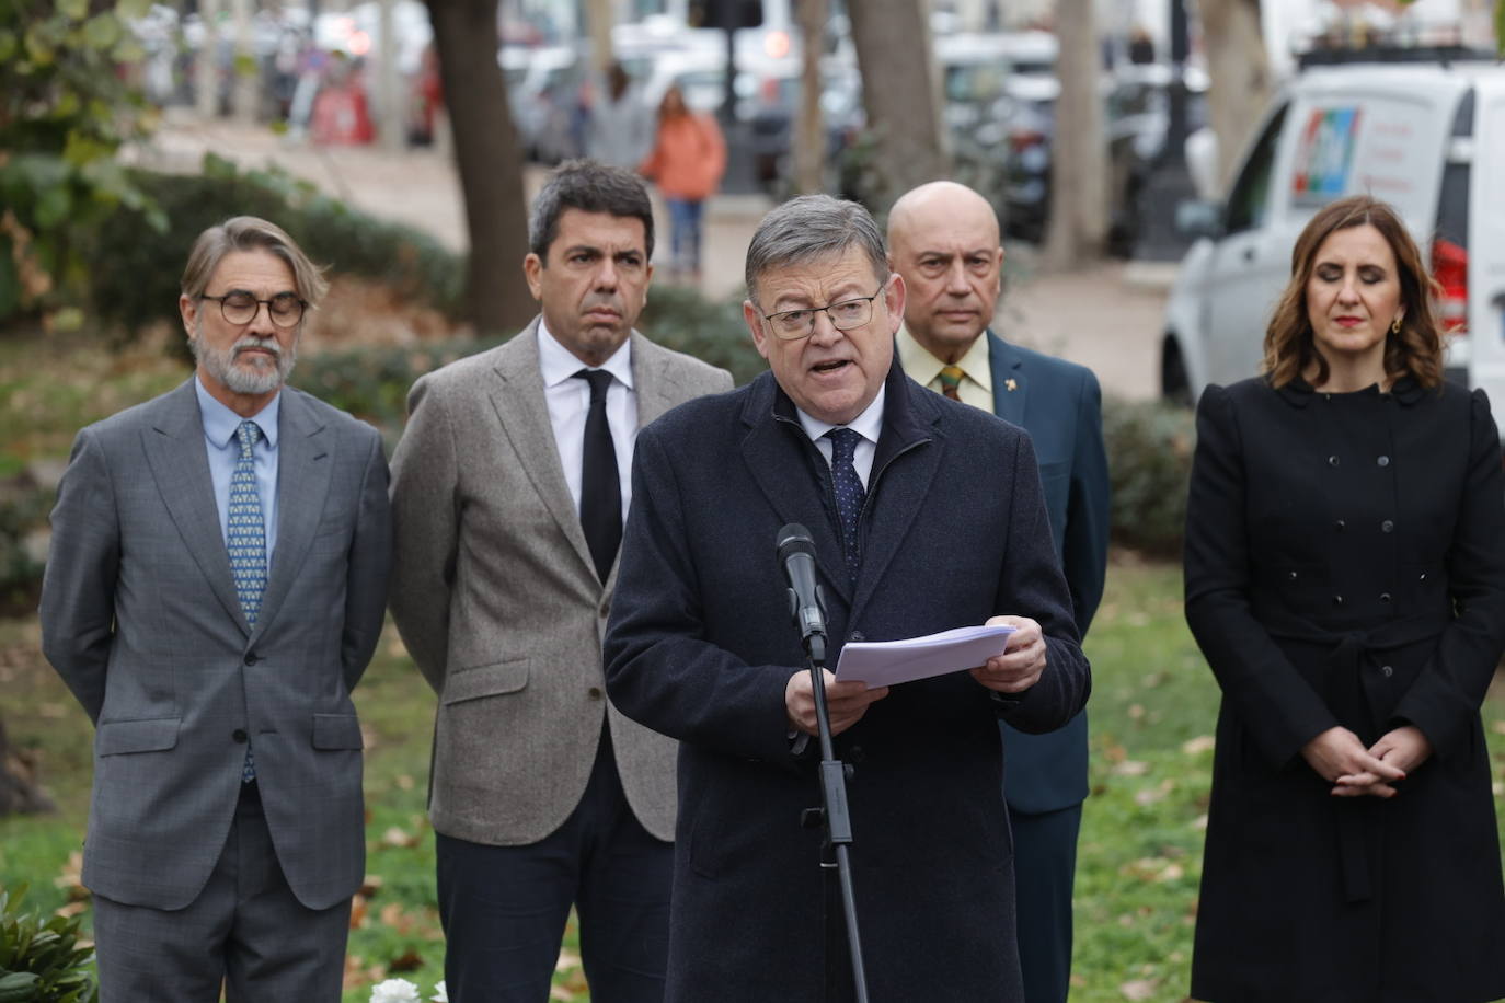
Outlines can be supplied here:
M622 343L599 368L613 374L607 388L607 424L617 447L617 480L622 481L622 522L628 522L632 502L632 447L638 439L638 395L632 388L632 340ZM584 462L585 417L590 414L590 383L575 373L591 368L560 344L543 317L539 317L539 370L543 374L543 398L554 426L554 445L564 466L564 483L579 513L581 463Z

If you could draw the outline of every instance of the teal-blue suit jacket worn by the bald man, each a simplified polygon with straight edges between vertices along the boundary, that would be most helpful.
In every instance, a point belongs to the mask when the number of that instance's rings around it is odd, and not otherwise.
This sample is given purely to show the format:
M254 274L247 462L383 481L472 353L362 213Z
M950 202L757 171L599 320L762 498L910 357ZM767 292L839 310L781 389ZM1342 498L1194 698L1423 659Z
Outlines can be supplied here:
M1087 629L1108 573L1108 454L1102 391L1085 365L1008 344L987 332L993 414L1022 426L1040 460L1050 538L1072 589L1076 630ZM1010 389L1010 383L1013 389ZM1041 814L1087 797L1087 711L1044 735L1004 723L1004 797L1014 812Z

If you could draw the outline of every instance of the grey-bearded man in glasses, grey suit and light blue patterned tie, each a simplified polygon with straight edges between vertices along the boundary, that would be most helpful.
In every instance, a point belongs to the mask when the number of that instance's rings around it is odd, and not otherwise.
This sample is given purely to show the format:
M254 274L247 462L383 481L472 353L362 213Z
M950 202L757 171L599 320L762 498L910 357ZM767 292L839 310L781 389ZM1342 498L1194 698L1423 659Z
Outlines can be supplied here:
M205 230L194 377L80 432L57 489L42 650L95 722L107 1003L340 998L391 519L376 430L284 385L324 289L265 220Z

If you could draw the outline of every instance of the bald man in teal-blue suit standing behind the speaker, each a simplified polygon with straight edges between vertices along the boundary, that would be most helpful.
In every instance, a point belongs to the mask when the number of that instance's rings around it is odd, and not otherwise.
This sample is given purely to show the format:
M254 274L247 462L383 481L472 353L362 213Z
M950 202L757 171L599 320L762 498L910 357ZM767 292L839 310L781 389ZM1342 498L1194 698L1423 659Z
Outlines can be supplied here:
M905 280L905 371L930 389L1022 426L1034 441L1050 537L1085 636L1108 571L1108 456L1093 371L992 331L1002 287L998 215L938 180L894 203L888 257ZM999 484L1005 472L993 472ZM1064 1003L1072 977L1072 884L1087 798L1087 711L1029 735L998 722L1014 835L1019 967L1028 1003Z

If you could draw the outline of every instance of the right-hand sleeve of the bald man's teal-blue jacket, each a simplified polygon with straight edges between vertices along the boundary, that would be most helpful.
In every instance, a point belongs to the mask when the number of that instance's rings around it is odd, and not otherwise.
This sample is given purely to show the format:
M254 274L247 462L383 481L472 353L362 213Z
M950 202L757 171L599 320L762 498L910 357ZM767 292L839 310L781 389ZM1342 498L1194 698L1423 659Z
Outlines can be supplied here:
M1109 478L1103 448L1103 394L1087 373L1076 409L1076 447L1061 565L1072 589L1076 630L1085 638L1108 576Z

